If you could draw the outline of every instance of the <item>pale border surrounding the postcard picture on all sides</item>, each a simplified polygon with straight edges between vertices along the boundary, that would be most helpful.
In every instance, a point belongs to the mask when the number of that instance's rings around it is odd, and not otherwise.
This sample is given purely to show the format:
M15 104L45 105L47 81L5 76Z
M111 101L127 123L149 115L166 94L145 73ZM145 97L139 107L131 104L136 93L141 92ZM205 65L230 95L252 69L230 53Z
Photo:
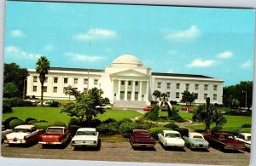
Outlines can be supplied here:
M22 0L20 0L22 1ZM34 2L40 2L40 0L30 0ZM71 2L71 3L125 3L125 4L151 4L151 5L172 5L172 6L196 6L196 7L220 7L220 8L249 8L256 9L255 0L41 0L45 2ZM3 47L4 47L4 15L5 15L6 0L0 0L0 110L2 112L2 99L3 99ZM256 37L256 33L255 33ZM255 38L254 37L254 38ZM255 40L255 39L254 39ZM255 41L254 41L255 42ZM256 47L254 48L254 78L256 81L256 60L255 60ZM255 84L253 84L255 85ZM253 86L253 109L256 105L256 88ZM2 113L0 112L0 122L2 122ZM256 137L256 112L253 112L253 138ZM251 151L251 163L250 165L256 165L256 139L252 140L253 146ZM0 152L1 153L1 152ZM200 159L200 158L198 158ZM65 166L65 165L140 165L140 166L155 166L155 165L195 165L195 164L177 164L177 163L119 163L119 162L92 162L92 161L78 161L78 160L45 160L45 159L24 159L24 158L6 158L0 157L0 165L52 165ZM212 163L214 164L214 163Z

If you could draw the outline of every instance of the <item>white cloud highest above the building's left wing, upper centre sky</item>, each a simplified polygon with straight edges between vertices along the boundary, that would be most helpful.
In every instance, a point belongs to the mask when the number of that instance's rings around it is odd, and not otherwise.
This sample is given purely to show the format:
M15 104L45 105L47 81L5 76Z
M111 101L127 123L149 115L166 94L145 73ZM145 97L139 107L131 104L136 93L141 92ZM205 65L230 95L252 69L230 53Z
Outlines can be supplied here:
M73 38L78 41L88 41L88 40L98 40L103 38L114 38L116 36L117 36L116 31L101 29L101 28L92 28L89 31L75 35Z

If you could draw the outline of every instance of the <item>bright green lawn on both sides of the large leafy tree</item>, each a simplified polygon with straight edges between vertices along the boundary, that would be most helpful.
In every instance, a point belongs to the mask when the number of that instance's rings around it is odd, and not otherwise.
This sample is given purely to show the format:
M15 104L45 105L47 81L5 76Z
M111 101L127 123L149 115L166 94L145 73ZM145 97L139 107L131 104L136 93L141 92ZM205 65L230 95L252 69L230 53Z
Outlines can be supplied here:
M68 123L70 117L68 117L66 113L60 113L60 111L61 107L14 107L13 112L3 113L3 121L9 117L19 117L22 120L25 120L27 117L33 117L38 120L46 120L48 122ZM121 120L123 118L139 117L141 115L141 113L136 111L107 110L98 117L101 120L105 120L109 117Z

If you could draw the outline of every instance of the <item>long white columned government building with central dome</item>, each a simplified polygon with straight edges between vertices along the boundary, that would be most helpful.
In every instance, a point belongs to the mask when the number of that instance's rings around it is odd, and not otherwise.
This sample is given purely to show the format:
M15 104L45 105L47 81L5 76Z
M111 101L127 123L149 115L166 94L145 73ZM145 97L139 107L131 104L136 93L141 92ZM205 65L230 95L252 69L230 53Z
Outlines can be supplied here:
M41 84L35 69L28 69L26 95L40 97ZM201 75L152 72L137 57L123 54L105 70L51 67L44 83L45 99L68 99L68 85L80 92L94 87L102 89L114 106L142 107L155 100L154 90L166 93L168 100L180 103L188 89L197 94L195 104L222 104L224 80Z

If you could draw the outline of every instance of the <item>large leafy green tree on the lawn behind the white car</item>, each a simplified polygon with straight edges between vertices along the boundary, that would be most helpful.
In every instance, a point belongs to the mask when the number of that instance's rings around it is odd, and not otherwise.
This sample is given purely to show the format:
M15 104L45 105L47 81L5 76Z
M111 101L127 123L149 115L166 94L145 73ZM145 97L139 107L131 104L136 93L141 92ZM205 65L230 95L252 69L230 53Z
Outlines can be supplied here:
M90 127L93 117L97 117L98 114L105 112L101 107L103 98L102 89L93 88L88 90L86 94L78 92L75 103L70 103L64 107L61 112L66 112L70 117L78 117L80 123L87 122L87 126ZM106 99L105 99L106 100Z

